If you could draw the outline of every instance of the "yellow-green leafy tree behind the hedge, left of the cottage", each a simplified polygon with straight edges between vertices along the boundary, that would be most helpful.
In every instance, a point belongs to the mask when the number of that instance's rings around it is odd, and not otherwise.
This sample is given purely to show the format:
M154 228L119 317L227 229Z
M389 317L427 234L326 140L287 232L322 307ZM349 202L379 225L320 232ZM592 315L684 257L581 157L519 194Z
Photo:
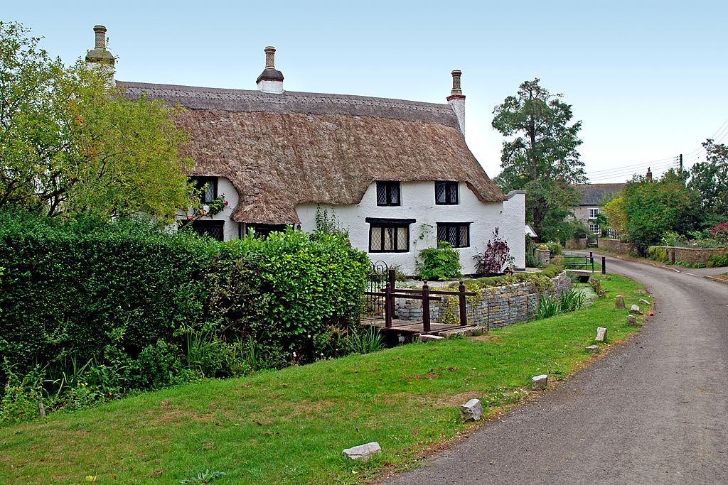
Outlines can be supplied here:
M175 109L128 100L108 71L66 68L19 23L0 22L0 207L171 220L194 185Z

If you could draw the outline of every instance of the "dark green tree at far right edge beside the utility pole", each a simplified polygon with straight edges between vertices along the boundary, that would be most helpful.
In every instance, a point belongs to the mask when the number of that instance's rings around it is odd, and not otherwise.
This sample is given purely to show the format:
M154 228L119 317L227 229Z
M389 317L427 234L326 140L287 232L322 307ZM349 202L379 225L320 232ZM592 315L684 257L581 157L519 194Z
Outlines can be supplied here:
M702 225L728 221L728 147L708 139L703 143L705 161L690 169L688 187L700 193Z

